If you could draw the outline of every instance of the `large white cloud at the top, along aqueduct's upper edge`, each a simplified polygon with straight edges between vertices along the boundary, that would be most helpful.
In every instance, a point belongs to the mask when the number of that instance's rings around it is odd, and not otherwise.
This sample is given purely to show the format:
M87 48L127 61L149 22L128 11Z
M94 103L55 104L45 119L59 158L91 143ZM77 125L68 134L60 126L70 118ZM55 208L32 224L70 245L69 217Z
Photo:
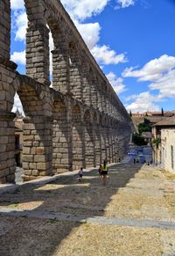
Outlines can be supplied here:
M97 62L105 65L126 62L124 54L116 55L116 52L111 50L109 46L97 45L101 30L99 23L81 23L86 18L101 13L105 6L109 4L109 0L63 0L62 4L73 18L75 26L77 26Z

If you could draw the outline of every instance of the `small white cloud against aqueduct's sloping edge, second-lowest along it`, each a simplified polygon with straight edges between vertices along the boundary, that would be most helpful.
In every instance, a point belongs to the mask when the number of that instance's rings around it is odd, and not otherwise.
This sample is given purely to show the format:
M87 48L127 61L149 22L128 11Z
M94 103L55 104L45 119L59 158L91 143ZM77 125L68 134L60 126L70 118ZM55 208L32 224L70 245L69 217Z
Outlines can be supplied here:
M116 77L113 72L110 72L106 77L109 79L109 83L113 86L116 94L120 94L126 91L125 85L123 84L123 78Z

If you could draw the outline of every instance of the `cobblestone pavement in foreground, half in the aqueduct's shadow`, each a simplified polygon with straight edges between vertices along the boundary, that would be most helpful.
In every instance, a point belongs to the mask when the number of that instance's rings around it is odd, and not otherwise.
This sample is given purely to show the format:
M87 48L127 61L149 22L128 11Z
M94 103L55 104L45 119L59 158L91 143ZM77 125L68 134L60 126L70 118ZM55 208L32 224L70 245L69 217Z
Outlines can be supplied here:
M175 255L175 175L110 166L0 195L0 256Z

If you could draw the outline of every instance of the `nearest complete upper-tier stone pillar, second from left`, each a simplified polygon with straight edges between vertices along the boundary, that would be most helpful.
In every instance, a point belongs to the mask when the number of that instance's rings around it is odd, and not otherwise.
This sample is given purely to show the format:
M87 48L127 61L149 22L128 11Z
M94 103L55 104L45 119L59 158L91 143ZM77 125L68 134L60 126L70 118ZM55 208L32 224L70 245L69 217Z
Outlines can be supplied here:
M26 33L26 75L50 85L49 29L45 24L30 24Z

